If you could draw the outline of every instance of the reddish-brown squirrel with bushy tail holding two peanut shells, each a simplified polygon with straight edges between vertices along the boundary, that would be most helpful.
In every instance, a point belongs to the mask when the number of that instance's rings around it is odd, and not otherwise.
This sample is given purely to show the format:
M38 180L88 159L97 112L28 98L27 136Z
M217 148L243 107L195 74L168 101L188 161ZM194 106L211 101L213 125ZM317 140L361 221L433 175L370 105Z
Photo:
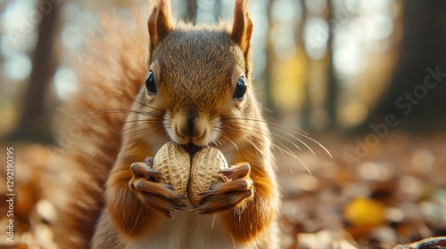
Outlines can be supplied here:
M174 20L166 0L153 1L148 30L105 17L65 109L91 122L63 154L74 176L54 229L60 248L277 248L280 194L247 5L236 0L232 23L213 25ZM191 207L145 160L169 141L192 157L219 149L229 181Z

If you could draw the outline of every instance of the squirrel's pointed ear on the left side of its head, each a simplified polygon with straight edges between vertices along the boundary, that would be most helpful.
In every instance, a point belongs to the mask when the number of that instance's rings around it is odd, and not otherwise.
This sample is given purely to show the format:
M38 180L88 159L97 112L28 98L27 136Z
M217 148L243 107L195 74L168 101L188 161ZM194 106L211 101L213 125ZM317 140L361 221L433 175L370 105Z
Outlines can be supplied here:
M169 34L172 29L170 19L169 0L151 1L152 12L149 16L148 26L150 35L150 52L153 52L160 41Z

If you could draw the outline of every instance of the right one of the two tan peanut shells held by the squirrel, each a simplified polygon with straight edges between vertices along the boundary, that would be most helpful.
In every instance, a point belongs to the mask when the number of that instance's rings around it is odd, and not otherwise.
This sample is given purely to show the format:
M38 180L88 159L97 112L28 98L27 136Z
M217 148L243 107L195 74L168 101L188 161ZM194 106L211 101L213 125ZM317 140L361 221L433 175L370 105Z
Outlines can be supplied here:
M219 171L227 169L225 156L219 149L206 147L195 153L192 160L191 176L187 196L192 205L200 204L198 194L208 190L219 181Z

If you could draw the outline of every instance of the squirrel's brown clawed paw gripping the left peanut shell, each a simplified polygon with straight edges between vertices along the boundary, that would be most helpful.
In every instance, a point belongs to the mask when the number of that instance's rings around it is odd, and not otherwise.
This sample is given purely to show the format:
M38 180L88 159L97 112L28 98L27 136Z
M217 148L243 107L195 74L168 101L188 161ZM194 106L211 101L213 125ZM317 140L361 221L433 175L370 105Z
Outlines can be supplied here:
M186 197L175 192L170 184L161 183L165 176L152 168L153 160L130 165L132 178L128 181L131 189L136 189L137 197L150 208L164 213L169 218L170 211L185 210L183 200Z

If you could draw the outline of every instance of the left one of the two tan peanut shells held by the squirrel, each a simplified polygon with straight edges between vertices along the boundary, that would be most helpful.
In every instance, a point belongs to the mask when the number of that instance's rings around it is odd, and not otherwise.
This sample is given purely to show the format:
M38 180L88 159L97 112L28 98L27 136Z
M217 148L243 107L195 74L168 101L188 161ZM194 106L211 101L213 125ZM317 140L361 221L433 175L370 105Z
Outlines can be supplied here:
M191 157L177 143L164 144L153 157L153 169L166 177L164 183L172 185L180 195L185 195L189 181Z

